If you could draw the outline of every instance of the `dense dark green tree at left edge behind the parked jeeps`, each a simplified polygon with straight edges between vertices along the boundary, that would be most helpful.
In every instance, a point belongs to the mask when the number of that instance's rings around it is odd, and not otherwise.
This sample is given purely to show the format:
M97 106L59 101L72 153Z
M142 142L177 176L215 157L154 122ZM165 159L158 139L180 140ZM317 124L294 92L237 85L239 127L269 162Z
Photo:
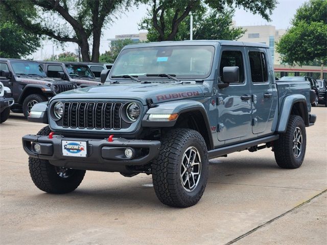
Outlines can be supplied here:
M0 22L0 57L20 59L33 54L39 46L39 35L11 21Z

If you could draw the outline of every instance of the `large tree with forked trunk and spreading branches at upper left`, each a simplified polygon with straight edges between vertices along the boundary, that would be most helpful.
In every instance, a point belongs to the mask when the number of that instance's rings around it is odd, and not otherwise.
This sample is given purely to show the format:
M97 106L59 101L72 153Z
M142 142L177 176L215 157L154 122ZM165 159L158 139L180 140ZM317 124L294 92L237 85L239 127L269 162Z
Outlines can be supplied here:
M1 8L21 28L59 42L75 42L81 48L83 61L97 62L102 29L121 7L127 8L130 3L131 0L2 0Z

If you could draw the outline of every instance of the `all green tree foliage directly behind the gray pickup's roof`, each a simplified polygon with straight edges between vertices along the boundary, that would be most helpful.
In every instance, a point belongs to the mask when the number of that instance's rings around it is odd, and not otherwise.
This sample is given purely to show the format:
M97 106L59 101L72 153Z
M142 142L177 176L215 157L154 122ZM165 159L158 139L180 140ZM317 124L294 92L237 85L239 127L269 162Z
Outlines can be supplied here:
M184 32L188 29L188 18L192 11L193 15L198 18L200 30L210 31L209 33L203 33L202 36L206 38L216 38L224 35L220 35L218 32L215 33L214 28L218 24L217 19L225 23L223 15L227 14L227 20L230 14L233 12L230 9L243 7L245 10L252 12L253 14L260 14L263 18L269 20L269 15L275 8L276 0L143 0L144 3L150 3L151 8L148 10L148 15L139 23L140 29L147 29L150 36L149 40L164 41L164 40L182 40ZM205 9L210 9L208 12ZM227 10L226 10L227 9ZM203 19L204 17L205 19ZM196 20L194 21L196 23ZM214 26L212 26L214 24ZM223 29L222 32L227 31L226 25L218 25L219 28ZM195 31L196 26L194 27ZM232 30L231 31L236 31ZM228 39L236 39L241 33L238 30L237 33L233 33ZM214 32L214 33L213 33ZM235 36L235 38L232 38ZM198 32L200 38L200 31ZM228 36L227 36L228 37Z

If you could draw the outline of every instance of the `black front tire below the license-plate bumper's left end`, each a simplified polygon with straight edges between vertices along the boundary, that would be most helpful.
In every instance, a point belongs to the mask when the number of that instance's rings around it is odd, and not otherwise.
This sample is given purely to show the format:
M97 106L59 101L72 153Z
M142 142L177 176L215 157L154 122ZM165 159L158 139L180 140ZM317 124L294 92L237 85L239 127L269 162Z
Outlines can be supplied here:
M49 126L41 129L39 135L49 135ZM62 178L57 174L57 167L51 165L48 160L29 157L29 169L31 178L42 191L48 193L63 194L74 191L82 182L85 170L72 169L72 175Z

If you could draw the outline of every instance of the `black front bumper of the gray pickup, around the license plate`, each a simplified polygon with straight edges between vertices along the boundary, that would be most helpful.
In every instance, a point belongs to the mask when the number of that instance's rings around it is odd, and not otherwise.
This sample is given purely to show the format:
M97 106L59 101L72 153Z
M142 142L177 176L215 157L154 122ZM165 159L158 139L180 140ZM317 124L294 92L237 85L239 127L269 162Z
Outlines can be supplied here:
M62 140L85 141L86 157L64 156ZM40 151L34 150L34 144L40 145ZM125 138L107 139L66 138L61 135L49 136L25 135L22 137L25 152L34 158L49 160L56 166L99 171L122 171L126 166L146 165L157 157L160 141L128 140ZM133 157L127 158L125 149L133 151Z

